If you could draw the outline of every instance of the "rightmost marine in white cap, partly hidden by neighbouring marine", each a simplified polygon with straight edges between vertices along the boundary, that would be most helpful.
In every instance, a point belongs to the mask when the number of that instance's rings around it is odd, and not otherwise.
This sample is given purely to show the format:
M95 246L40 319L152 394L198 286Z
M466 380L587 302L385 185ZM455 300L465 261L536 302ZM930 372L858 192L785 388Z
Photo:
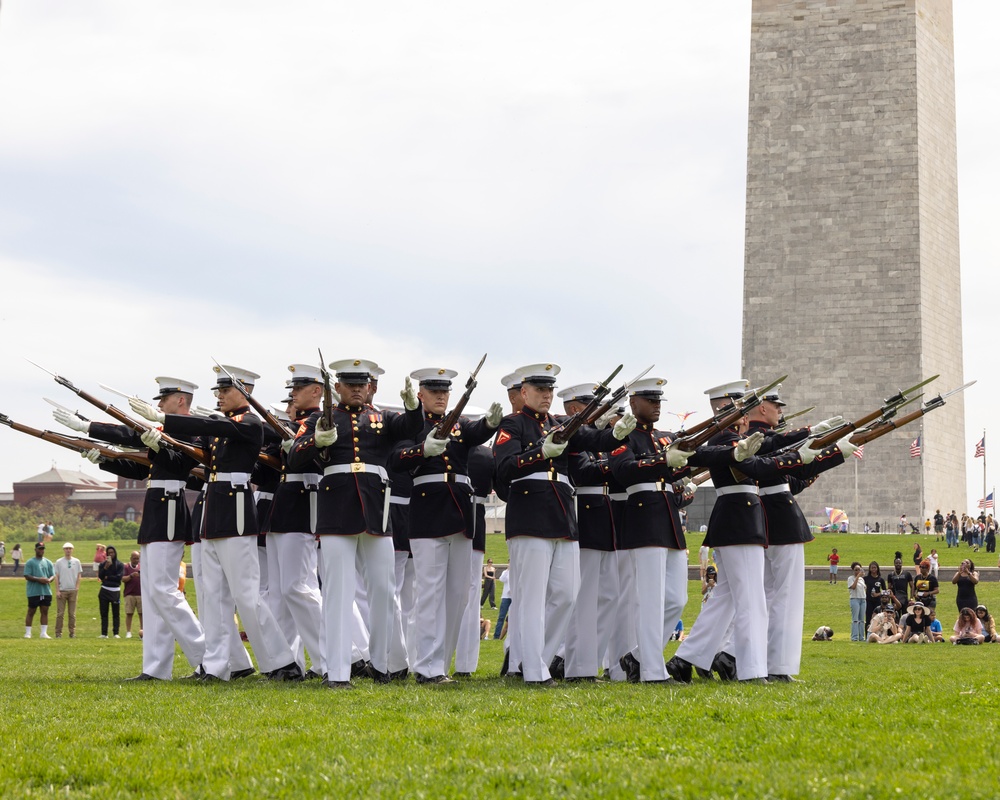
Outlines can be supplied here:
M778 390L747 415L749 432L764 435L758 455L767 455L798 445L811 434L821 434L843 423L832 417L810 427L777 433L784 401ZM846 445L845 445L846 446ZM809 488L818 476L808 479L776 475L757 482L764 509L768 546L764 550L764 595L767 598L768 680L790 682L802 663L802 623L805 613L805 543L815 537L794 495Z

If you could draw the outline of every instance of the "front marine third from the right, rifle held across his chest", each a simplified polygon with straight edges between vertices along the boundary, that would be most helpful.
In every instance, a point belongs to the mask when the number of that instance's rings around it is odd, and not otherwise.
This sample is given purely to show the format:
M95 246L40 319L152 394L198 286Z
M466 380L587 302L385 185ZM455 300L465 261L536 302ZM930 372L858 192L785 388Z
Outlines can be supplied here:
M631 556L636 641L620 656L629 680L668 680L663 648L687 604L687 541L680 509L694 492L677 492L687 455L671 449L675 434L657 430L663 378L646 378L631 388L636 428L611 453L611 470L628 497L619 536L620 555Z

